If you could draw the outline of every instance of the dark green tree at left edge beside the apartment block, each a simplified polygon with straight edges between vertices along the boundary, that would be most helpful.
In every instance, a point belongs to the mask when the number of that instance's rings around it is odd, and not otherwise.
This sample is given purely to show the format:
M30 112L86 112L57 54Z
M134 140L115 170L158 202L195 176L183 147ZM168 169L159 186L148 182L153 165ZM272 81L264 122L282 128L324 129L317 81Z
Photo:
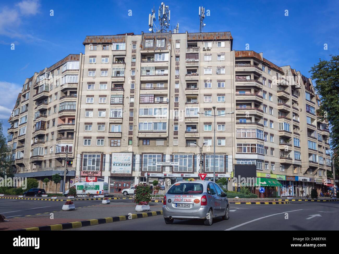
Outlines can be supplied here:
M13 177L12 172L12 147L7 145L7 139L2 133L2 122L0 122L0 177Z

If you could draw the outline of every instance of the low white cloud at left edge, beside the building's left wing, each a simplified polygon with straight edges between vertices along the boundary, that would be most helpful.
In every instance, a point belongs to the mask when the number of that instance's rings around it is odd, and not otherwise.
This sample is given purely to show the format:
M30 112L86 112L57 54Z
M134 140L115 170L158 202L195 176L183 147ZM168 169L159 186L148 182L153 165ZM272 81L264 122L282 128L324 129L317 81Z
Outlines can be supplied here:
M21 85L0 81L0 120L8 120L21 90Z

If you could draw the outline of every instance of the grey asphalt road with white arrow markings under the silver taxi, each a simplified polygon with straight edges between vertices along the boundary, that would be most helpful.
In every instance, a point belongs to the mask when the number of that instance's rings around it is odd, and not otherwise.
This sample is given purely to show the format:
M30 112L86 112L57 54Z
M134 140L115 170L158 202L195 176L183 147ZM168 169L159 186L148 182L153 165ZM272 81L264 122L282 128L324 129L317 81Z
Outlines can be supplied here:
M159 205L159 210L161 210ZM230 219L216 218L212 226L200 220L152 216L70 230L338 230L339 202L291 202L285 205L231 205Z

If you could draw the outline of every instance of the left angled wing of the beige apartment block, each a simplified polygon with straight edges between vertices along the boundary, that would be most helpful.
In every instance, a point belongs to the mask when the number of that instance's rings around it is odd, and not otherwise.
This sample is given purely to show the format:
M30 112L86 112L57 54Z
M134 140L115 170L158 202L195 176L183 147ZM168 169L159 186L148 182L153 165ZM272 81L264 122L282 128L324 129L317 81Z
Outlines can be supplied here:
M34 177L41 188L43 179L48 178L49 192L55 192L52 175L63 176L65 163L67 187L75 177L74 131L81 59L82 54L68 55L26 79L9 118L8 145L13 148L14 175Z

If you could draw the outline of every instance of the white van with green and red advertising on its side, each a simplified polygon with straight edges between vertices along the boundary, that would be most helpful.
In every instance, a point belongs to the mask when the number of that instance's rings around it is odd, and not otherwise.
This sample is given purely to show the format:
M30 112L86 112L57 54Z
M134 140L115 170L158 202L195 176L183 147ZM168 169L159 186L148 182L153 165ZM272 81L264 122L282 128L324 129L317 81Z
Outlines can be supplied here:
M94 195L107 195L108 194L108 183L105 182L81 182L76 183L73 186L77 189L77 195L87 195L90 197ZM85 190L85 191L84 191ZM68 196L68 190L65 191L65 197Z

